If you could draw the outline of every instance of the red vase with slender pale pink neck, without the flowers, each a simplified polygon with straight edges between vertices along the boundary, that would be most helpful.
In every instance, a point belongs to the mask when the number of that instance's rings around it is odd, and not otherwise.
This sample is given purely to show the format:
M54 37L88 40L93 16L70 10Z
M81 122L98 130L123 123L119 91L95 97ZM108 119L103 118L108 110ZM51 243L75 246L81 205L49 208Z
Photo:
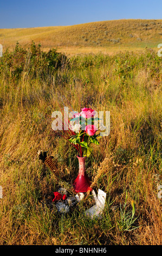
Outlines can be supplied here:
M73 182L73 187L76 193L85 193L89 190L89 187L91 185L91 181L89 180L86 174L86 168L85 168L86 156L85 157L77 156L77 159L79 160L79 174L77 175L77 178Z

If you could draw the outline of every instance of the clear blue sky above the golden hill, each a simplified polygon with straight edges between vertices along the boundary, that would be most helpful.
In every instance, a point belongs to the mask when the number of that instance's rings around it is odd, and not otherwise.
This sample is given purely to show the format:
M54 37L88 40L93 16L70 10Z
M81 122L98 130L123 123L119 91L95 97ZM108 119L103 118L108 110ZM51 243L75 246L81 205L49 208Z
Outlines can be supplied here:
M162 19L162 0L0 0L0 28Z

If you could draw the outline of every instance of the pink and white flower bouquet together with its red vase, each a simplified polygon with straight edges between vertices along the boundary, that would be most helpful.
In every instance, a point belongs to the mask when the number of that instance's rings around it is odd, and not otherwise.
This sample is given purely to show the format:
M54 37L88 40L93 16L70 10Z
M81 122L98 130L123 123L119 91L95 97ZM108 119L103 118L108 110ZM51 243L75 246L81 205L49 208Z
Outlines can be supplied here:
M91 181L86 174L85 161L86 157L92 153L92 144L99 145L100 134L96 134L99 118L95 117L96 112L93 109L86 107L82 108L80 113L72 111L71 114L72 118L66 119L66 122L59 126L63 126L59 133L77 150L79 174L73 182L73 187L76 193L84 193L90 190Z

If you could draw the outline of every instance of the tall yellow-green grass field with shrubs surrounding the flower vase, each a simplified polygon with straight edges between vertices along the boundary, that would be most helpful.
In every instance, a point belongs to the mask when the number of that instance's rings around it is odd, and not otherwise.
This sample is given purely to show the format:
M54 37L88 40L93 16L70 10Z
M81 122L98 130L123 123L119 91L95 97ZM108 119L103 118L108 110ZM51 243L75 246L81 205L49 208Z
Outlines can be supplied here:
M151 49L66 58L18 44L0 58L0 244L161 245L161 61ZM90 220L92 194L66 216L54 191L73 195L76 151L51 130L56 95L75 111L110 111L111 132L86 160L94 187L107 193L101 219ZM38 160L48 151L55 178ZM160 192L161 193L161 192Z

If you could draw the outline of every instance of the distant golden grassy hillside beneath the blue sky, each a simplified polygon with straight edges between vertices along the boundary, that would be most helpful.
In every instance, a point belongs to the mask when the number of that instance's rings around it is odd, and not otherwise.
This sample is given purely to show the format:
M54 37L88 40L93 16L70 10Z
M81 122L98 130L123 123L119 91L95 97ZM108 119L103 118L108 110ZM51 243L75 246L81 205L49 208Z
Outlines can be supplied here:
M31 41L46 50L57 47L67 53L157 49L162 41L162 20L114 20L74 26L0 29L0 43L13 48L16 42L28 47Z

